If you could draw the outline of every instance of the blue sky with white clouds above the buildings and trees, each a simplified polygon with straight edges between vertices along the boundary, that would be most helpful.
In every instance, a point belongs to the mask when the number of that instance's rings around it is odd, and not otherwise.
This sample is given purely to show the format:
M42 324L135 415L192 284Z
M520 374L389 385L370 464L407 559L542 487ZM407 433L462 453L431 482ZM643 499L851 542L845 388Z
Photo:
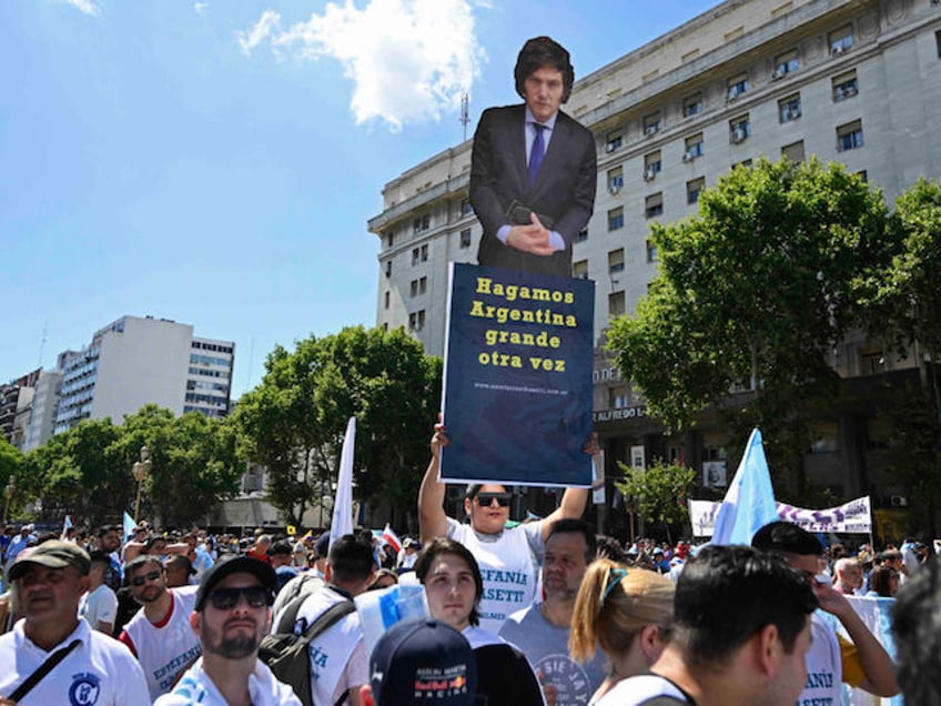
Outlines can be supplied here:
M576 79L718 4L3 0L0 381L125 315L275 345L375 325L391 180L518 102L529 37Z

